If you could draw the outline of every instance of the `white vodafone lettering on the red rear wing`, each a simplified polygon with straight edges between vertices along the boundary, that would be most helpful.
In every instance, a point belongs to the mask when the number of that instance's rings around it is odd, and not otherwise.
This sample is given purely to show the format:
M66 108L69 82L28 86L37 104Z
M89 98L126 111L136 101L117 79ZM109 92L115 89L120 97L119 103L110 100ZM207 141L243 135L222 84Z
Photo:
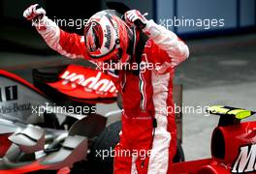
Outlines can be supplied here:
M86 92L91 92L93 90L98 92L110 92L117 93L117 90L112 83L112 80L102 77L103 74L98 72L96 76L85 77L84 74L71 73L66 71L60 77L63 79L62 84L68 85L71 83L72 88L77 88L78 86L84 87Z

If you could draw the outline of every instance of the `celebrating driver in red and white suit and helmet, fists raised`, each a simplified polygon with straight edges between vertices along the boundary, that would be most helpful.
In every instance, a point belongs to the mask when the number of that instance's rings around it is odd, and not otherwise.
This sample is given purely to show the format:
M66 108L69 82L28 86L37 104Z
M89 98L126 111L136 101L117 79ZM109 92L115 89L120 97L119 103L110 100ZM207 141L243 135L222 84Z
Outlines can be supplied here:
M124 108L114 173L170 173L176 154L176 123L175 113L167 108L174 106L174 70L188 58L188 46L136 10L122 17L111 10L94 14L83 36L61 30L37 4L23 15L36 23L48 46L60 54L99 65L120 65L107 72L121 93ZM124 64L144 66L134 70L122 68ZM145 157L142 151L147 152Z

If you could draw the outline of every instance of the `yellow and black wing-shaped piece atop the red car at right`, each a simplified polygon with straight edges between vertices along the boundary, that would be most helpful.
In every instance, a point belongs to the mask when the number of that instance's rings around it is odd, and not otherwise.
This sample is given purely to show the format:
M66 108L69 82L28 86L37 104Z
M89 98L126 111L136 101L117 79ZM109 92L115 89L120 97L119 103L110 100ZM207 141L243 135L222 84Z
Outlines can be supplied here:
M219 126L235 125L240 123L240 120L256 113L255 111L225 105L212 105L208 107L207 112L220 116Z

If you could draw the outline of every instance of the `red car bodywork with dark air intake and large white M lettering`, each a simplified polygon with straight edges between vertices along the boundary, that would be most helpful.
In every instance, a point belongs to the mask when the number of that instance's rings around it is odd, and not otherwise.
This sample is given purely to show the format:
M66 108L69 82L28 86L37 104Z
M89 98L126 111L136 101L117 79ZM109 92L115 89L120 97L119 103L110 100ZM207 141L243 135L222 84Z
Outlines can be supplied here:
M253 145L256 145L256 122L217 127L211 136L212 158L175 163L172 173L228 174L244 173L246 170L249 173L256 173L256 151L251 148ZM241 154L241 147L248 147L247 153ZM243 157L243 160L240 160L240 157ZM248 167L249 162L253 163L252 170Z

